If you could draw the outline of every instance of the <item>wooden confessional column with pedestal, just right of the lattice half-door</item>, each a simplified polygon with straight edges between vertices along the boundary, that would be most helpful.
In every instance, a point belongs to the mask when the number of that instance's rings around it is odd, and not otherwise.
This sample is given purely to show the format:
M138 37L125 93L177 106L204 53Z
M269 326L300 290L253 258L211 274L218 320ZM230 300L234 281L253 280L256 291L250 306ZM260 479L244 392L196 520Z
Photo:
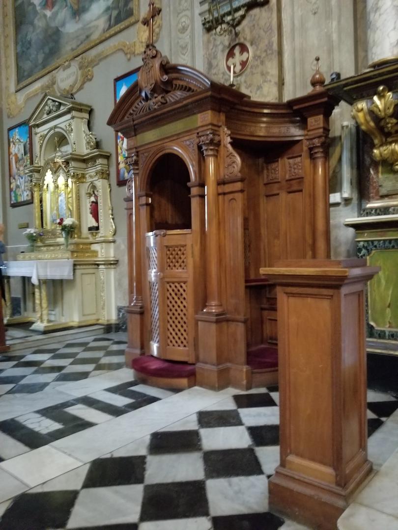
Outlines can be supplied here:
M197 139L204 155L206 185L206 305L198 321L196 384L218 390L229 385L227 314L221 302L220 211L218 197L221 137L209 130Z

